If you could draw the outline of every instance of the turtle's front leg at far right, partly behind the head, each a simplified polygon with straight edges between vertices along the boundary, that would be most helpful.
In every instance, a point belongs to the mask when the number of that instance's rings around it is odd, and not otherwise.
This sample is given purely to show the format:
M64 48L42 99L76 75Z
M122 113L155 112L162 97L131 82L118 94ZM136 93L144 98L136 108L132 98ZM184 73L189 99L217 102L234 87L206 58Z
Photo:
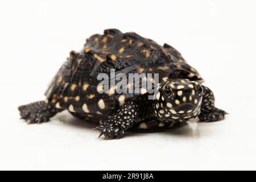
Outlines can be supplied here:
M203 85L202 85L203 86ZM204 95L201 105L201 113L199 119L201 122L214 122L221 121L228 114L224 110L218 109L214 106L214 95L212 90L208 87L203 86Z

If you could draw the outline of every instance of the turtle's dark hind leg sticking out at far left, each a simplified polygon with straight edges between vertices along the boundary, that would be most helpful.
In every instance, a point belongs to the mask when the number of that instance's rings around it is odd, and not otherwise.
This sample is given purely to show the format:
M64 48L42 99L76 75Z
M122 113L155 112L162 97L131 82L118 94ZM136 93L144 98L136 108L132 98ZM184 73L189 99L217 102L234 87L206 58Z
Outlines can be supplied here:
M25 119L27 123L48 122L51 117L62 111L62 109L57 109L54 105L44 101L19 106L18 110L21 119Z

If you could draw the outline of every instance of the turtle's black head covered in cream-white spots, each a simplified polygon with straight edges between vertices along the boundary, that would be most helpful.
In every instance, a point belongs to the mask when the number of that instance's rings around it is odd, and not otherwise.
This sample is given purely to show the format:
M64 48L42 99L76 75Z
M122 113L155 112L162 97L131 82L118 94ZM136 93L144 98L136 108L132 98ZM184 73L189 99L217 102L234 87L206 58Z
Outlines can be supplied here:
M168 79L159 85L152 108L160 121L185 121L200 113L202 98L203 87L199 82Z

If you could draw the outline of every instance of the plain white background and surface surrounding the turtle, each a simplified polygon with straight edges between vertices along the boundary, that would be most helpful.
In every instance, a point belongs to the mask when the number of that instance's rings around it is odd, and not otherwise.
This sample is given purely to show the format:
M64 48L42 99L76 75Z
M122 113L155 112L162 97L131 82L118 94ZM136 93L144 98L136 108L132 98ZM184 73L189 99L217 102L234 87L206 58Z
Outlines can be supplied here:
M256 169L255 1L1 1L0 169ZM43 100L72 49L106 28L177 48L229 115L160 133L97 139L58 114L26 125L16 107Z

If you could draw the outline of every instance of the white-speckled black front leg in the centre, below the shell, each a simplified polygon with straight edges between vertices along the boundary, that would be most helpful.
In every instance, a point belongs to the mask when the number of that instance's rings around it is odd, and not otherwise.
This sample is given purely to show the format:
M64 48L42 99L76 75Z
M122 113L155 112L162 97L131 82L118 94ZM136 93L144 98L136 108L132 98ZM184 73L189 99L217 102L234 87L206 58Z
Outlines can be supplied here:
M138 105L134 102L127 103L117 110L107 121L96 129L100 132L99 138L104 135L108 139L123 137L125 131L130 129L138 120Z

